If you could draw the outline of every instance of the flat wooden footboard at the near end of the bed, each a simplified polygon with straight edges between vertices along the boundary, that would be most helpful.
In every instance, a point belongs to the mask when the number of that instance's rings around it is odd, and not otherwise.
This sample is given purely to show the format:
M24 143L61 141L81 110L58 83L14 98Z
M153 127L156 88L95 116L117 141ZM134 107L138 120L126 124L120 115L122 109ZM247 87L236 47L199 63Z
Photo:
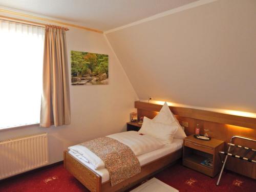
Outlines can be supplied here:
M82 165L67 151L64 152L64 167L90 191L101 191L101 176Z

